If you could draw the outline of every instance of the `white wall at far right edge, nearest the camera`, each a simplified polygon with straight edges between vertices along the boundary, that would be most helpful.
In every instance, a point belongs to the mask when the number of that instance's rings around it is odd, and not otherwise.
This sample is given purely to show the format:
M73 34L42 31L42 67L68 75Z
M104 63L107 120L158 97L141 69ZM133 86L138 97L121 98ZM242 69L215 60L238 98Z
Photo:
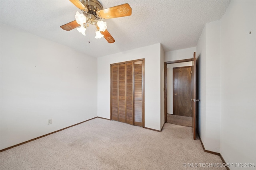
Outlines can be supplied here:
M220 153L230 163L256 163L255 25L256 1L231 1L221 19Z

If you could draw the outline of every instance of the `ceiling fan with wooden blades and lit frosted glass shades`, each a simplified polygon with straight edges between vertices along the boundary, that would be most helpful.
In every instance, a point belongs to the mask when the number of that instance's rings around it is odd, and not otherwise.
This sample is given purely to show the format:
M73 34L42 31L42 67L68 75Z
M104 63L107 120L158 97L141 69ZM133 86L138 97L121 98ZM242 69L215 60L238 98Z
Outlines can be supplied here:
M114 43L115 40L106 29L106 22L102 20L132 15L132 8L129 4L103 9L98 0L82 0L81 2L79 0L70 0L70 2L82 10L82 14L76 12L76 20L60 27L66 31L76 28L80 33L85 35L86 27L89 27L90 23L96 26L95 38L104 37L108 43Z

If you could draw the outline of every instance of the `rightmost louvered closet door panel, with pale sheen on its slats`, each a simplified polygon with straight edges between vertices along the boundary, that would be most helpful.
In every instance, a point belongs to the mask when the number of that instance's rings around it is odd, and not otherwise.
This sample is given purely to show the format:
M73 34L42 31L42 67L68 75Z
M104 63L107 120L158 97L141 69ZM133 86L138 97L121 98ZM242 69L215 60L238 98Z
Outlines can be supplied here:
M134 62L134 125L143 126L142 61Z

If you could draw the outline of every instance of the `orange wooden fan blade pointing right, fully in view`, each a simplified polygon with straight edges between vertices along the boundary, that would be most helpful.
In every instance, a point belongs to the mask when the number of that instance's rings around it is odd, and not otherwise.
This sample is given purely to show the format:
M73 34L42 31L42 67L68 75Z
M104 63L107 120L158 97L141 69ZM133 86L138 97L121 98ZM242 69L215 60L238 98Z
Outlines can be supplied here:
M98 16L104 19L125 17L132 15L132 8L129 4L122 4L111 8L106 8L98 12Z

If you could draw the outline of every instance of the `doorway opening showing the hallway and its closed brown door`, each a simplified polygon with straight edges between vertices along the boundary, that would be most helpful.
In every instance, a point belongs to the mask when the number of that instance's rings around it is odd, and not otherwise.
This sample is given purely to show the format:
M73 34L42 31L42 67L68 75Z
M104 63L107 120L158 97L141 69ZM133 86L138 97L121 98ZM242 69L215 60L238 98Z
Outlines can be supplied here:
M192 127L190 102L192 61L166 62L166 123Z

